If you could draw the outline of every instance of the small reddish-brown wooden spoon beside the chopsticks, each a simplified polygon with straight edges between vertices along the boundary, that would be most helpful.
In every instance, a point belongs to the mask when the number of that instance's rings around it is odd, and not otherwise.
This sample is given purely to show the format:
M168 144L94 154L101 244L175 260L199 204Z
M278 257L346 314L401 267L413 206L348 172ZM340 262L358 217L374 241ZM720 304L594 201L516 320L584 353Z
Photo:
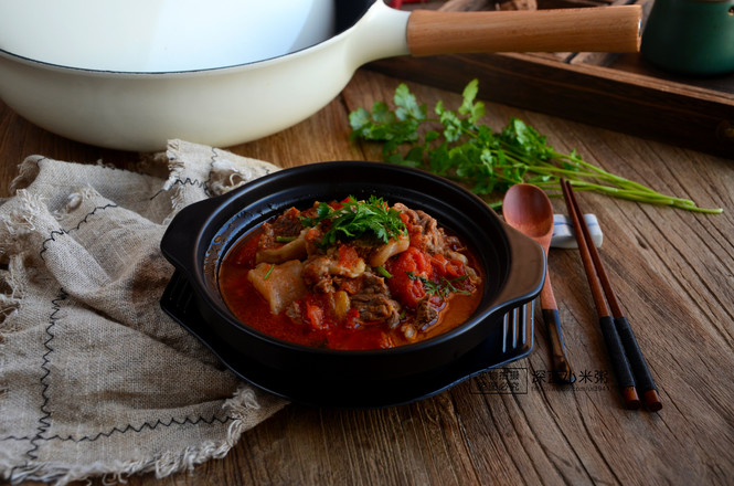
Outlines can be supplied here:
M543 247L547 260L553 236L553 207L542 189L533 184L514 184L502 201L504 221L515 230L535 240ZM561 332L561 317L555 303L551 275L545 266L545 282L541 289L541 309L547 326L555 378L566 383L576 380L571 369Z

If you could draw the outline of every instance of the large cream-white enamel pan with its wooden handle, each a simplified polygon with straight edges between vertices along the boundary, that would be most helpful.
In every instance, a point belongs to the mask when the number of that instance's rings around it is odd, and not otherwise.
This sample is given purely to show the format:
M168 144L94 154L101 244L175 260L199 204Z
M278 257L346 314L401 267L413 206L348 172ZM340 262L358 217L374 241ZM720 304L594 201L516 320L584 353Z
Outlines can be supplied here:
M361 65L397 55L630 52L639 7L398 11L382 0L0 3L0 97L108 148L228 147L292 126Z

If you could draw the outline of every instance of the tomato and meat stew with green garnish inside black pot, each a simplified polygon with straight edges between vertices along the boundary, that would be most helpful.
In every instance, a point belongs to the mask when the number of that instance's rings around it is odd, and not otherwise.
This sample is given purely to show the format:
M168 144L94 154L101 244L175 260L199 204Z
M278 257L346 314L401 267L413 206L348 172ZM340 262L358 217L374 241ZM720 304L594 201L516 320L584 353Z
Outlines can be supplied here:
M436 220L380 198L290 208L224 257L220 290L264 334L312 347L380 349L443 334L482 294L476 257Z

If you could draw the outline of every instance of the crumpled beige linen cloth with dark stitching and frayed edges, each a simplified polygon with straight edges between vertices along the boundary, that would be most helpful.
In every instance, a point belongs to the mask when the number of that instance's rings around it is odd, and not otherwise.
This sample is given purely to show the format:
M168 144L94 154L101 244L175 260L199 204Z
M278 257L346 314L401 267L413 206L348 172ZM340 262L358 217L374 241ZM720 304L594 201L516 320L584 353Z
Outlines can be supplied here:
M162 477L223 457L285 405L159 305L177 211L273 170L181 140L130 171L21 163L0 200L1 478Z

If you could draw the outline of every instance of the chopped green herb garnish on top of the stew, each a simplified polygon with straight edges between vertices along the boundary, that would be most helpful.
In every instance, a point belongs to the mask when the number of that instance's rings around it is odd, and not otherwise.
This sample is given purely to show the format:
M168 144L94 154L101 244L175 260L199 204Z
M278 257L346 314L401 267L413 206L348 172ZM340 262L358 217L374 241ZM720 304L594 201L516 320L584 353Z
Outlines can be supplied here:
M338 241L360 237L387 243L407 232L400 211L390 208L382 198L375 196L371 196L366 201L358 201L350 196L337 210L321 202L313 218L301 218L301 224L309 228L329 220L328 225L325 225L328 230L320 243L323 247L332 246Z

